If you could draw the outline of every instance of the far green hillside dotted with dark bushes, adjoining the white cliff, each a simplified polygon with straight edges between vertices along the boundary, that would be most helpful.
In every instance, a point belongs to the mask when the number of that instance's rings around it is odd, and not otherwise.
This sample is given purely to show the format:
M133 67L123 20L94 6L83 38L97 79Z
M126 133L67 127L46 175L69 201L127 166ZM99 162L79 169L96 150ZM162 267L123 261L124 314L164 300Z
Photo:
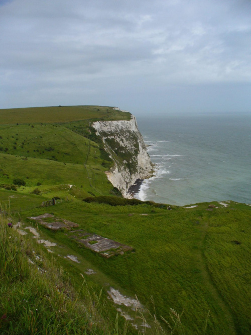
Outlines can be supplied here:
M99 150L100 144L88 138L89 123L100 118L130 117L130 113L109 107L0 110L0 120L5 123L0 126L0 184L12 184L14 178L20 177L25 179L26 187L19 191L29 193L41 183L38 188L48 198L83 198L90 196L87 192L109 194L113 187L104 172L110 162ZM43 118L60 124L40 122ZM81 121L65 123L80 118ZM74 187L69 191L65 184Z

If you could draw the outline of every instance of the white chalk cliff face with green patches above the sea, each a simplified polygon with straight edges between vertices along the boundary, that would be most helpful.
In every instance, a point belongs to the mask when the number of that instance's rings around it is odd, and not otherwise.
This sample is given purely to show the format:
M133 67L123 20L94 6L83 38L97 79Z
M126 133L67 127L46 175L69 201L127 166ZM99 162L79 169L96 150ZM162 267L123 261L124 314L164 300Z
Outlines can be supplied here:
M130 197L129 188L138 179L149 178L153 169L135 116L130 121L97 121L92 127L114 162L106 172L108 180L124 197Z

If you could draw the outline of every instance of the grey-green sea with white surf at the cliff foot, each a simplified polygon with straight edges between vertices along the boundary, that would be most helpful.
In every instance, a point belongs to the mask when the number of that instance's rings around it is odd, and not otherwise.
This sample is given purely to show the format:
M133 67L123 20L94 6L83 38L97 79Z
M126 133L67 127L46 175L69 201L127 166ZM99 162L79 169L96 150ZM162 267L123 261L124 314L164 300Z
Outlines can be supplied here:
M136 198L251 204L251 114L138 116L137 123L155 172Z

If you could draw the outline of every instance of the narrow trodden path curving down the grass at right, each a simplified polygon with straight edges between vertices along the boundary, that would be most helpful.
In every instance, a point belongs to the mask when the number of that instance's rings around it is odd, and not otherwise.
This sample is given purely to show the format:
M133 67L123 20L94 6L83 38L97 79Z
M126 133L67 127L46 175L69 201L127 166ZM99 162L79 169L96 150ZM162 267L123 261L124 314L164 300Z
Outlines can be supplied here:
M228 322L228 334L237 334L236 331L236 327L233 321L233 317L232 314L229 310L229 307L227 306L227 304L224 302L224 300L221 297L221 294L218 292L217 287L214 285L213 280L211 278L210 272L207 268L206 265L206 258L203 254L204 252L204 245L205 245L205 240L206 240L206 234L207 234L207 229L208 229L208 222L206 221L204 223L204 226L202 227L202 234L201 234L201 241L199 243L199 249L201 250L200 253L198 253L198 261L199 261L199 265L200 265L200 270L201 273L204 277L205 283L207 283L207 288L209 289L209 291L211 292L213 298L215 299L215 301L218 302L218 305L220 306L220 308L222 309L223 313L224 313L224 317Z

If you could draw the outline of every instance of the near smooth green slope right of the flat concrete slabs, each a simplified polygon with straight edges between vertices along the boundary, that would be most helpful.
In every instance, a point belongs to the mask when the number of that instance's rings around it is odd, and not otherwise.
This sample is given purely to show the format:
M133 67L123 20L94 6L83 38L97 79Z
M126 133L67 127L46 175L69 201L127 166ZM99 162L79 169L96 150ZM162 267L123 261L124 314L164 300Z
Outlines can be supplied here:
M148 205L111 207L75 202L57 206L53 212L67 215L88 232L134 246L136 254L104 260L71 245L74 255L82 255L131 295L137 293L150 309L152 295L157 314L169 318L169 307L179 312L184 309L185 333L203 333L210 310L207 333L245 334L250 331L251 321L250 275L246 269L250 260L251 209L239 204L231 204L234 210L218 208L208 212L206 208L207 204L201 204L196 209L167 211ZM129 217L132 212L135 214ZM225 216L228 223L221 245L221 239L215 238L211 230L217 222L221 236L225 225L221 219ZM48 234L60 243L69 243L64 233ZM236 239L242 243L231 242ZM217 253L219 247L222 250ZM230 267L224 266L226 255L231 260ZM237 277L232 273L236 264Z

